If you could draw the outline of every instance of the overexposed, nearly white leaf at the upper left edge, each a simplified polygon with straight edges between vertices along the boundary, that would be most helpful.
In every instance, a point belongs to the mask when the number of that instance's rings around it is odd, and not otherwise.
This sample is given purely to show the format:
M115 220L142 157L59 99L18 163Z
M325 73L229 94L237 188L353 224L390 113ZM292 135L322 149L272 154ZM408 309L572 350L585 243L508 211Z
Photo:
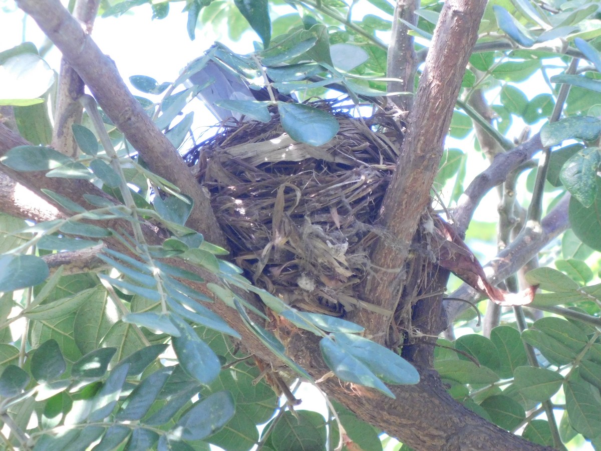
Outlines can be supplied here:
M36 54L22 53L2 61L0 105L33 105L55 81L55 72Z

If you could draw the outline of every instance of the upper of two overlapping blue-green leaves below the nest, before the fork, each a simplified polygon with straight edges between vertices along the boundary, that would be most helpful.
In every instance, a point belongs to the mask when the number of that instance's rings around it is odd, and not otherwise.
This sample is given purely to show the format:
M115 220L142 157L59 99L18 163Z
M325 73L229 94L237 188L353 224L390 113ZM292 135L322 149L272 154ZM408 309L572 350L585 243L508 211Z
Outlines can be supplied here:
M390 349L364 337L346 334L331 334L336 343L358 358L374 374L389 384L417 384L419 373L412 364Z

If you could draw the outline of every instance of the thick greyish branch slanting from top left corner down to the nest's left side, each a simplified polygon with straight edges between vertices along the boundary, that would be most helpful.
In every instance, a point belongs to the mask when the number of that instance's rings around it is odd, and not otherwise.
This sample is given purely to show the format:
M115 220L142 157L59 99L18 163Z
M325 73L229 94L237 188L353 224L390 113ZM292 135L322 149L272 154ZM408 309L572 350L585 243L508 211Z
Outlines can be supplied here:
M59 0L19 0L29 14L81 76L103 111L139 152L150 170L174 183L194 200L189 224L208 241L225 245L225 238L205 195L169 140L151 121L127 89L113 61Z

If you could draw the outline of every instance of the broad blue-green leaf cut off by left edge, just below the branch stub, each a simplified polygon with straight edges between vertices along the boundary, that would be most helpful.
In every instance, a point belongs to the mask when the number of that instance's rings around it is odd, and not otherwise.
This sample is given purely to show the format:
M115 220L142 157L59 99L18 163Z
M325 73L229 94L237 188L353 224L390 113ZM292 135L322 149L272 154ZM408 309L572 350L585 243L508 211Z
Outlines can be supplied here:
M48 265L32 255L0 256L0 291L9 292L42 283L48 277Z

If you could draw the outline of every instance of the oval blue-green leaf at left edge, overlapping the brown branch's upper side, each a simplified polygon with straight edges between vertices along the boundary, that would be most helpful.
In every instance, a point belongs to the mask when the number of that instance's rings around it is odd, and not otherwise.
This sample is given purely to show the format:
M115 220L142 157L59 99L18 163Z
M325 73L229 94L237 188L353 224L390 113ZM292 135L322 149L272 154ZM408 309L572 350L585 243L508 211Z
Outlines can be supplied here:
M15 171L47 171L73 159L50 147L17 146L0 157L0 162Z

